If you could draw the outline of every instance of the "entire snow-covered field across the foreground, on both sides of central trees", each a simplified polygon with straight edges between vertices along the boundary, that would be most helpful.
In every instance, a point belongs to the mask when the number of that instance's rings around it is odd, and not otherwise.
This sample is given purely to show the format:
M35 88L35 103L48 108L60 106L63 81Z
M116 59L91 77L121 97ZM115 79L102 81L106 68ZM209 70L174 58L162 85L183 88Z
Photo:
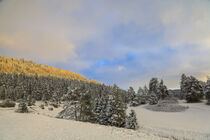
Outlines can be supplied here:
M57 119L61 107L49 111L39 104L24 114L0 108L0 140L210 140L210 106L204 103L180 101L189 109L170 113L135 107L137 131Z

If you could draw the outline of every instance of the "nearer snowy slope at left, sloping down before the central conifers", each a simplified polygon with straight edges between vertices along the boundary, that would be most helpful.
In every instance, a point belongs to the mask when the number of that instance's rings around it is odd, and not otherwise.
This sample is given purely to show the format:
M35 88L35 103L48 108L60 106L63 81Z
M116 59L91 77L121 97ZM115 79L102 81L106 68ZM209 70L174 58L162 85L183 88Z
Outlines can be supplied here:
M17 106L17 105L16 105ZM61 108L30 113L0 108L0 140L167 140L147 132L54 118Z

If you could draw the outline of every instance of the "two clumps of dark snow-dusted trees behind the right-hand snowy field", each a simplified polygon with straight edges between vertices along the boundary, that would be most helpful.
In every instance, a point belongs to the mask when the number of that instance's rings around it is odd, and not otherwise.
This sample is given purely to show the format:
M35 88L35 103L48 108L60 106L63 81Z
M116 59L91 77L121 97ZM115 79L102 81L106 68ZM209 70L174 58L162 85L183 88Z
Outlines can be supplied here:
M206 82L202 82L193 76L182 74L180 91L180 99L185 99L187 102L199 102L205 97L207 104L210 104L210 78ZM134 89L130 87L128 93L130 95L131 106L138 106L145 103L153 105L157 104L159 100L164 100L171 96L163 80L159 82L157 78L150 80L149 89L146 86L144 89L140 87L138 92L135 93Z

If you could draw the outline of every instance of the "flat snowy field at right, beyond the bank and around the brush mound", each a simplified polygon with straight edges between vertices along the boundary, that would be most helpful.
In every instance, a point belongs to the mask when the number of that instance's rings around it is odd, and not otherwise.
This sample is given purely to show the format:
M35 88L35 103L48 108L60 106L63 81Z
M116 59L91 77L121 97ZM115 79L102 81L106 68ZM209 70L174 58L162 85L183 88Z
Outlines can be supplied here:
M142 132L190 140L210 140L210 106L205 103L185 103L189 106L184 112L155 112L139 106L137 113Z

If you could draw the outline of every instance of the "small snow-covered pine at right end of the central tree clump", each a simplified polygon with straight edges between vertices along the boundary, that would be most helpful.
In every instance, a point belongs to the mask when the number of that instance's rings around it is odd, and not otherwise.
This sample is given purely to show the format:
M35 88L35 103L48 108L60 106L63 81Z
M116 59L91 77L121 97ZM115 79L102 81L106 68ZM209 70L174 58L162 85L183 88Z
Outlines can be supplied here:
M138 129L139 125L136 119L136 113L134 110L131 110L129 116L126 118L126 128L128 129Z

